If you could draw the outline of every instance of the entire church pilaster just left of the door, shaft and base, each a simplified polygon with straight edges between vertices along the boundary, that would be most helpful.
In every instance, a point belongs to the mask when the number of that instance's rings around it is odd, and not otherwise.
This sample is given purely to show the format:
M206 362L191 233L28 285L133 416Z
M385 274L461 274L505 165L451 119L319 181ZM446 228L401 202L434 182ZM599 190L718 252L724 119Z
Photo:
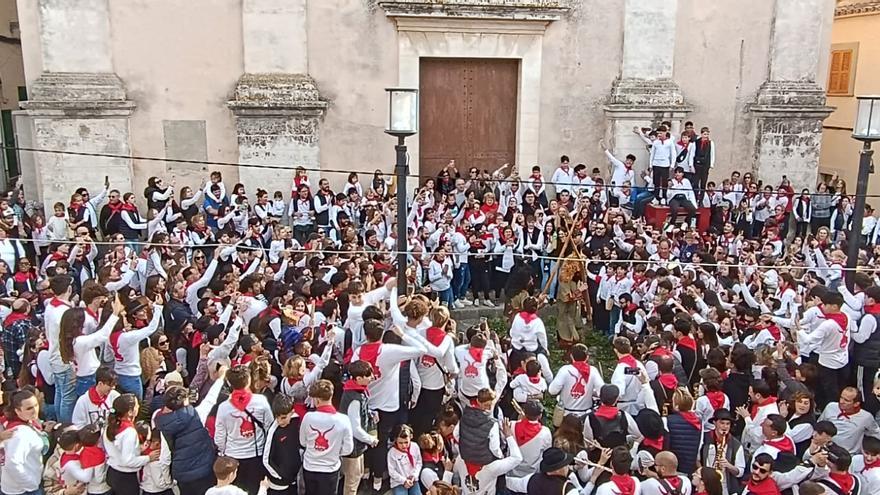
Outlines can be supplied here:
M228 102L239 161L290 169L241 167L239 180L248 191L284 190L294 168L321 165L319 128L327 102L308 75L306 13L306 0L244 0L245 74Z

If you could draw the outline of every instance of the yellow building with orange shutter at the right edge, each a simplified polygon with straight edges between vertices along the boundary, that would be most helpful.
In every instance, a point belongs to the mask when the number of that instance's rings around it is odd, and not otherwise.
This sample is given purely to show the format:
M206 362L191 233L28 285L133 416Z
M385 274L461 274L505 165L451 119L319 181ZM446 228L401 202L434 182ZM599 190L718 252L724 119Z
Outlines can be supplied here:
M828 105L836 107L825 120L820 177L837 173L855 191L859 149L852 139L856 95L880 94L880 1L838 0L831 31L831 63L828 74ZM868 182L868 194L880 194L877 173ZM880 198L868 198L874 208Z

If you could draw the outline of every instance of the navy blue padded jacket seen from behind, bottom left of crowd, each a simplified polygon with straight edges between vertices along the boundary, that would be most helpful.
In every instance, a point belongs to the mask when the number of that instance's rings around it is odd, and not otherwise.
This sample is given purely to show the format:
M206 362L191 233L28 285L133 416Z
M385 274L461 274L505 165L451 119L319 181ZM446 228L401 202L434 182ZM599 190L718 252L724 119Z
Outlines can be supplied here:
M156 426L171 448L172 478L188 483L213 476L214 441L192 406L156 416Z

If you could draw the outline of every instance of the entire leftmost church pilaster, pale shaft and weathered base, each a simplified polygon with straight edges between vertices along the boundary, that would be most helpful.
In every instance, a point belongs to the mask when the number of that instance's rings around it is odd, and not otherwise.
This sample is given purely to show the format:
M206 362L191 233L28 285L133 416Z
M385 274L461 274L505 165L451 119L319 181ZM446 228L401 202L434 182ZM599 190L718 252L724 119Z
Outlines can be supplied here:
M130 155L129 116L135 104L113 72L108 0L39 0L43 72L23 104L32 148ZM26 187L51 211L78 187L103 188L104 176L132 190L129 158L32 153ZM28 180L30 179L30 180Z

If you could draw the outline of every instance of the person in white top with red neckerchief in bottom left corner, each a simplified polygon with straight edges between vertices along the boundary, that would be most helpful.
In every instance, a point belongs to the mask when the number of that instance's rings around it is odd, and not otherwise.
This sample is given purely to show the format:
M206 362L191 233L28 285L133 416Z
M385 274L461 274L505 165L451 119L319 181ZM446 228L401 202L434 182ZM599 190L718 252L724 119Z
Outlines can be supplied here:
M39 424L40 403L33 392L17 392L6 415L9 418L6 429L12 431L12 437L3 447L5 461L0 468L0 491L23 495L41 493L43 455L49 450L49 439Z

